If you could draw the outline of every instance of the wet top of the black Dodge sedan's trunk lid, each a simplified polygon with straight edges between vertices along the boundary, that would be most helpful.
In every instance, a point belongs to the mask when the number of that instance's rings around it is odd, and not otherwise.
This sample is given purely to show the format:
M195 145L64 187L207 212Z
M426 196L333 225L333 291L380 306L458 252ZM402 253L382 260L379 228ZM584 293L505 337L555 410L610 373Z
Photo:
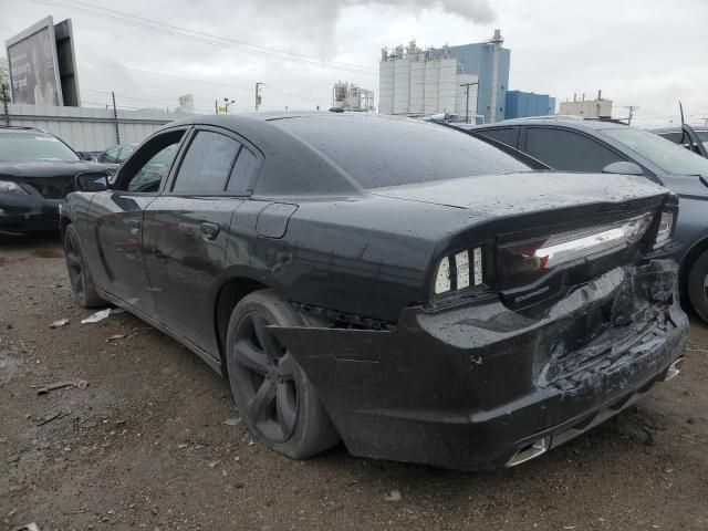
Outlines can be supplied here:
M499 217L589 204L626 204L660 197L668 190L644 177L524 171L377 188L372 192Z

